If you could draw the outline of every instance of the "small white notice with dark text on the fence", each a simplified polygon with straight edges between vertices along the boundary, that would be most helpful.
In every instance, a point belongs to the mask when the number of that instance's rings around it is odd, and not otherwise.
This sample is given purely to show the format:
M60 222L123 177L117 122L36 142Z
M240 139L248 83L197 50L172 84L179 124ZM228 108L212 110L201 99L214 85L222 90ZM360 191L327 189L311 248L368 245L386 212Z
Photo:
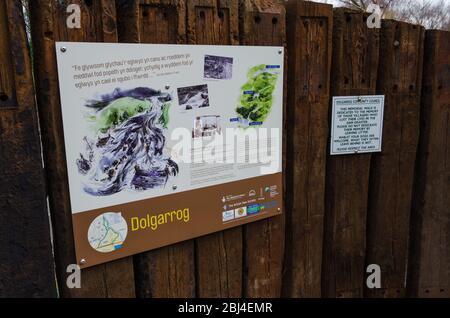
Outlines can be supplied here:
M384 96L333 97L331 155L381 151Z

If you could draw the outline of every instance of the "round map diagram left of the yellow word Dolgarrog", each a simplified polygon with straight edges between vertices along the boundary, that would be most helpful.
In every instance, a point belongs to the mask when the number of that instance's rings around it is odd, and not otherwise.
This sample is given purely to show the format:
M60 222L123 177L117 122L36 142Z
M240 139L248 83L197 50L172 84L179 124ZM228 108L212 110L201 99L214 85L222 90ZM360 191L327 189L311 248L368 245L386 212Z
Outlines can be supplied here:
M88 230L89 244L100 253L109 253L122 247L128 225L121 213L107 212L97 216Z

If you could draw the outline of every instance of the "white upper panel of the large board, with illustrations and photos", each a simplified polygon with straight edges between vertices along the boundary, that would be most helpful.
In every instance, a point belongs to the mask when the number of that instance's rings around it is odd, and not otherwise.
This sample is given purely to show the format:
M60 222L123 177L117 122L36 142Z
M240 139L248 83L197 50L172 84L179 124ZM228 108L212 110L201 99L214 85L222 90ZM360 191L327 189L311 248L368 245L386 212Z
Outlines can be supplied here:
M73 213L260 176L267 160L241 162L244 150L270 147L281 172L283 48L58 42L56 53ZM260 144L233 146L232 133ZM225 153L234 160L216 160Z

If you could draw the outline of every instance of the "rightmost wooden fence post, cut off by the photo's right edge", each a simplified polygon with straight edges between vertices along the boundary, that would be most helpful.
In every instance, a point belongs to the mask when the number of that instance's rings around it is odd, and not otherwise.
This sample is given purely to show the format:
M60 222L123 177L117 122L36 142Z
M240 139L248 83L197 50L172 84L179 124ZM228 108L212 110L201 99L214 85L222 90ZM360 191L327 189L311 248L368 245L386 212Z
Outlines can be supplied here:
M425 36L408 294L450 297L450 32Z

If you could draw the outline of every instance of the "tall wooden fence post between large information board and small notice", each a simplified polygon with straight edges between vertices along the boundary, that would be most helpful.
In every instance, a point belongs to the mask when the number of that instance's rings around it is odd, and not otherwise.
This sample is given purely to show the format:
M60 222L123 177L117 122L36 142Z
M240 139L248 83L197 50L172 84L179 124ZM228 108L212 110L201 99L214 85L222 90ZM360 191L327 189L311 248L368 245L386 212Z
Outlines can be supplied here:
M286 5L288 106L283 295L320 297L330 97L331 5Z

